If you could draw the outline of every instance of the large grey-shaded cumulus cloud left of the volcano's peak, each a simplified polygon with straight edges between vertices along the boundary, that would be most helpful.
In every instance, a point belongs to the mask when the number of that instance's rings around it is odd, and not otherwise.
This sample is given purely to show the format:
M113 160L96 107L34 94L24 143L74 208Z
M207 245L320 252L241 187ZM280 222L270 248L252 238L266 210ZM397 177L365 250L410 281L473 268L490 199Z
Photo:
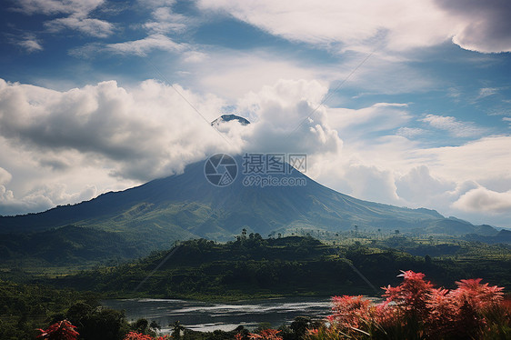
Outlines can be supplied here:
M220 112L218 98L175 86L207 119ZM155 81L130 91L110 81L67 92L4 82L0 98L0 135L32 158L50 155L53 165L76 151L82 162L103 159L112 175L145 181L182 171L219 145L230 148L172 87Z

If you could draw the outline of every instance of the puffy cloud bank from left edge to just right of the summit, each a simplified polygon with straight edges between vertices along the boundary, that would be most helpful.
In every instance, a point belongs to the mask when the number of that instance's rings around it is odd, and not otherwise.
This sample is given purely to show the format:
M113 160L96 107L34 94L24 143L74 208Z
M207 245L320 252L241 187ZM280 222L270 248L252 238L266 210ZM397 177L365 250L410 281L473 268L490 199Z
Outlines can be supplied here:
M320 155L342 146L325 110L293 130L326 94L318 82L281 80L246 95L239 109L254 123L223 126L224 137L208 122L225 103L174 86L205 118L171 86L153 80L133 88L109 81L65 92L0 81L2 176L16 174L8 187L2 183L0 211L73 203L92 195L86 185L95 185L97 194L115 183L125 188L179 173L206 155L239 153L246 145L256 152Z

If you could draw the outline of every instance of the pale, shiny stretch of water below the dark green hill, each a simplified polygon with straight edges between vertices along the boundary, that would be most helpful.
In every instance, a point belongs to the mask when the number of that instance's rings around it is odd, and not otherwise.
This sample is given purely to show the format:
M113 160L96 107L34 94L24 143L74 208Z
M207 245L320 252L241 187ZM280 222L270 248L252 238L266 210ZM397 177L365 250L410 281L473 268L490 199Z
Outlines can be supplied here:
M168 299L105 300L103 305L125 310L130 320L145 318L162 326L162 332L170 332L171 324L179 321L186 328L211 332L215 329L230 331L238 325L255 328L260 323L272 327L288 325L296 316L323 318L331 313L329 298L295 297L266 300L238 301L233 303L209 303Z

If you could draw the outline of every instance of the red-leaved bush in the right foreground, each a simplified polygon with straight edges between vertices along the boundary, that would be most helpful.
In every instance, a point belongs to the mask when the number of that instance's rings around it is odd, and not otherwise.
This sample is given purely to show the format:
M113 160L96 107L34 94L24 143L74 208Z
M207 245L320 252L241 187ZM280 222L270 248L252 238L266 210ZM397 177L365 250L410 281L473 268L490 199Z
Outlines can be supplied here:
M457 288L435 288L424 274L403 272L387 286L378 305L363 296L335 296L326 325L309 330L307 339L508 339L511 308L503 288L461 280Z

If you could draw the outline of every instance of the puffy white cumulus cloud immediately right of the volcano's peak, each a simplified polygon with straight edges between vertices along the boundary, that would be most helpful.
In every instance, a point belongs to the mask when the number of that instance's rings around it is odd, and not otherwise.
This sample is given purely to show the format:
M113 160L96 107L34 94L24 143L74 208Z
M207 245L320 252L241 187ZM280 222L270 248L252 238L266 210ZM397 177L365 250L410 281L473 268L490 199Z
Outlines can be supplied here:
M237 107L255 120L246 147L264 152L336 152L342 141L328 125L326 110L316 110L326 91L316 81L279 80L245 95Z

